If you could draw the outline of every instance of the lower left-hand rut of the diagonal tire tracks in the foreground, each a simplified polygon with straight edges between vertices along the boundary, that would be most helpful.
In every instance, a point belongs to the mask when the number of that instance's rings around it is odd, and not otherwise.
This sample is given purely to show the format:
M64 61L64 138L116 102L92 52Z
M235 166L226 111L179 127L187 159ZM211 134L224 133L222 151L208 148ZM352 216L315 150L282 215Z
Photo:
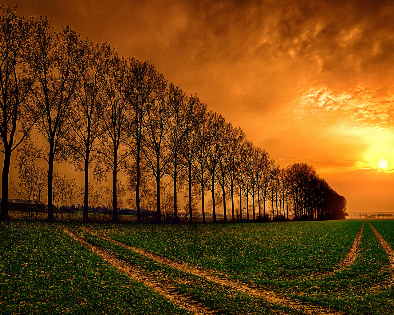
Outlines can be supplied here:
M169 300L171 300L173 303L177 304L181 308L187 309L188 311L190 311L195 315L218 314L217 311L212 311L209 308L204 307L202 303L192 300L190 298L190 295L185 295L185 294L181 295L176 293L173 290L173 288L169 287L166 283L158 282L154 276L136 270L122 259L114 257L100 246L96 246L89 243L86 239L71 232L71 230L69 230L68 228L62 227L62 230L64 233L66 233L67 235L69 235L79 243L82 243L82 245L89 248L92 252L94 252L104 260L106 260L108 263L110 263L120 271L123 271L125 274L127 274L137 282L141 282L147 285L148 287L160 293L165 298L168 298Z

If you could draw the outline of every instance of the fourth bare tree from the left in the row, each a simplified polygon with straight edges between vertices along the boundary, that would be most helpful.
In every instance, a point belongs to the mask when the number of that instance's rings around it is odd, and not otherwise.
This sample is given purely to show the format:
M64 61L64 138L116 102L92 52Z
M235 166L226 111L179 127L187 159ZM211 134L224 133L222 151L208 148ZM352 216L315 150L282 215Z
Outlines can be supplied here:
M133 60L130 61L131 63ZM128 98L132 84L130 81L128 60L120 57L117 52L112 56L111 67L104 82L101 98L100 117L103 132L99 139L99 148L95 166L97 181L106 179L108 171L112 171L112 221L118 222L117 213L117 174L124 161L132 153L124 149L129 137L128 126L132 123L132 113Z

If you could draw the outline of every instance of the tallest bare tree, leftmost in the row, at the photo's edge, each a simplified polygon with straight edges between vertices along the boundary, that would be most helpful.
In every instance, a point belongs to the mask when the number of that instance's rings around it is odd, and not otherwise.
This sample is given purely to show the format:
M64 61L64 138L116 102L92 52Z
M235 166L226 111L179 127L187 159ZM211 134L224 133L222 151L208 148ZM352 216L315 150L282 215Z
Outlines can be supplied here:
M32 87L35 72L24 64L26 43L31 34L32 20L24 21L16 15L17 7L0 6L0 107L1 147L4 153L2 172L2 201L0 220L9 220L8 176L12 152L30 132L35 119L29 115L26 99ZM36 118L37 119L37 118Z

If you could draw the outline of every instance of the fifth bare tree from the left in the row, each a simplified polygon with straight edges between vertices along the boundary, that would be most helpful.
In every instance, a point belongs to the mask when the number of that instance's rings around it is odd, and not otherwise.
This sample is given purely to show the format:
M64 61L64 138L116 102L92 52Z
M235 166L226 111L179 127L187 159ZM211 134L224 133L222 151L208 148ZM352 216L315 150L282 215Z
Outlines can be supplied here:
M135 198L137 209L137 222L141 222L140 213L140 189L141 185L141 146L143 145L143 126L145 115L149 104L154 102L154 91L163 80L163 75L160 74L154 65L148 62L141 62L139 60L131 63L132 88L130 89L129 102L132 110L132 121L129 125L128 133L134 140L132 143L127 141L128 146L132 146L135 151L136 159L133 161L135 165ZM127 165L126 165L127 167Z

